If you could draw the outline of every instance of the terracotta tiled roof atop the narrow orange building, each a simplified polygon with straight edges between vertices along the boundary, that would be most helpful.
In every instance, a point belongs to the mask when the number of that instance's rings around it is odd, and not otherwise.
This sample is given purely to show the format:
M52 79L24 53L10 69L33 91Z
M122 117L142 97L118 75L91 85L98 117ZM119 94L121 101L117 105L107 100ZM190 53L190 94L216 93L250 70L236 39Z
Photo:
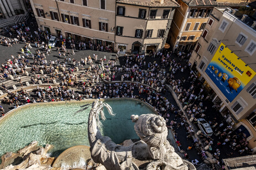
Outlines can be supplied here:
M216 0L183 0L188 6L218 6L218 7L240 7L247 6L247 2L231 3L216 2Z

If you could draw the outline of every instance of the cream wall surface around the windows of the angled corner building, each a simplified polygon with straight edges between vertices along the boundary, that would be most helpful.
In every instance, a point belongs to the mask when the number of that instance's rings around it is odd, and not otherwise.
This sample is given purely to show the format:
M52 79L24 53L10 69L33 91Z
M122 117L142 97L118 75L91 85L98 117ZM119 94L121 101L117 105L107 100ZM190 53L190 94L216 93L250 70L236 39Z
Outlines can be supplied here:
M160 50L166 42L168 31L172 22L175 9L172 8L146 8L140 6L131 6L129 4L119 4L117 7L125 7L125 16L116 15L116 26L122 26L122 35L116 35L116 48L119 44L126 46L126 52L132 52L132 44L136 41L141 43L141 52L147 52L147 46L155 46L155 50ZM146 9L146 17L139 17L139 10ZM157 10L156 18L150 19L150 10ZM170 10L169 18L163 19L163 10ZM136 29L142 29L141 38L135 38ZM158 29L165 29L163 38L157 38ZM145 38L146 30L153 30L151 38Z

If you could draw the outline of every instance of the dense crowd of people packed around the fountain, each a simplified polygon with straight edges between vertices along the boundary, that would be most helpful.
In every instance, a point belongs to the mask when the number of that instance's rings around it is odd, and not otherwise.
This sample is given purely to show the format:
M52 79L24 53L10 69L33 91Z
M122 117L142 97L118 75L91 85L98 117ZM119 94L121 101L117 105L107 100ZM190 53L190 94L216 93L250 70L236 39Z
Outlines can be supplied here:
M30 26L35 27L32 24ZM218 161L217 164L222 164L223 156L221 155L231 156L235 151L240 154L251 152L244 136L235 134L231 126L220 122L217 118L208 121L214 130L213 135L216 137L199 134L199 139L197 139L194 137L193 127L188 124L189 120L186 115L168 99L171 94L167 91L166 84L176 92L178 99L185 107L186 114L193 119L193 122L196 122L198 118L207 118L209 109L219 107L218 104L214 104L212 108L207 108L205 102L210 96L202 88L202 82L198 80L193 71L189 76L176 77L177 73L183 75L183 72L190 70L188 59L191 54L158 52L147 56L152 57L155 60L153 62L147 62L145 55L124 55L122 57L124 65L118 66L117 61L120 60L118 54L116 60L109 61L106 61L106 56L98 57L95 54L80 57L80 60L71 59L71 56L75 55L74 50L85 50L86 44L69 39L68 43L72 52L65 46L63 40L61 47L56 48L59 58L55 61L48 61L47 56L51 55L52 49L48 47L47 42L51 35L37 27L33 30L26 22L22 22L8 29L9 38L1 37L1 44L4 46L11 47L19 43L24 45L21 54L12 55L11 59L2 63L0 68L2 91L8 93L8 96L2 99L2 104L17 108L27 103L58 102L71 99L136 98L151 104L157 114L165 118L167 126L175 134L177 145L181 148L182 144L176 130L181 127L186 129L187 140L193 142L193 146L181 150L187 160L190 160L187 151L192 148L197 150L202 160L207 157L206 151L211 152ZM93 44L89 44L90 49L92 46ZM98 50L104 51L101 46L98 46ZM79 69L83 72L78 72ZM22 75L30 75L30 82L33 84L40 84L39 81L49 84L53 83L53 80L59 84L52 84L45 88L38 86L32 92L28 92L22 88L24 82L19 77ZM19 86L21 86L17 92L11 92L4 85L4 81L11 76L17 78ZM109 81L109 78L111 81L119 80L119 82L104 83L101 81L101 79ZM122 78L124 81L130 82L120 81ZM2 106L0 106L0 111L2 113L0 116L3 116L5 111ZM227 146L231 147L234 152L221 153L222 147Z

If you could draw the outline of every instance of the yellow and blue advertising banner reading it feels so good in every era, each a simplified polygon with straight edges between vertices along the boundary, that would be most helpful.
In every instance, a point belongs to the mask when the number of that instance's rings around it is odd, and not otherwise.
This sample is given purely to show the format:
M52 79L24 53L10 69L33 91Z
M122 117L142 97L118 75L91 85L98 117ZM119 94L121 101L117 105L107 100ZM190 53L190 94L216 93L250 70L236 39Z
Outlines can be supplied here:
M212 61L206 68L206 73L229 102L232 102L255 76L252 68L247 66L223 43L218 47Z

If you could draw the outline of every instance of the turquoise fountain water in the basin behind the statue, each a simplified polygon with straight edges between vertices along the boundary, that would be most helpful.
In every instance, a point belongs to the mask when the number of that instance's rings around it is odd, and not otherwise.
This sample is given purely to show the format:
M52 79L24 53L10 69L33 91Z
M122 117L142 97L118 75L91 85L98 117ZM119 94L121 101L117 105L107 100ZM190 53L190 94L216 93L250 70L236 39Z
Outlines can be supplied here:
M109 116L104 110L107 120L103 122L103 135L111 137L116 144L126 139L139 139L130 116L154 111L132 99L105 102L110 104L116 115ZM6 152L16 152L34 140L42 146L53 145L50 151L52 156L58 156L71 146L89 146L87 122L90 109L91 102L78 102L33 104L16 110L0 121L0 156Z

